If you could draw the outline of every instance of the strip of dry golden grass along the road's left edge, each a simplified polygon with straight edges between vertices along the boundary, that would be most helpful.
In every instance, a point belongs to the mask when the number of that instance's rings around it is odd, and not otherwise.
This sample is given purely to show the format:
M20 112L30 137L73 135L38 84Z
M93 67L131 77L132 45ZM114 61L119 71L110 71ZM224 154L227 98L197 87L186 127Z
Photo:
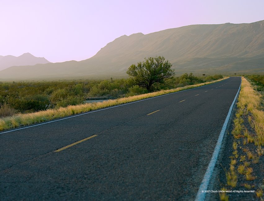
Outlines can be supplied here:
M201 86L208 85L211 83L219 82L227 78L228 77L225 77L223 79L216 80L213 82L200 83L200 84L186 86L186 87L178 87L176 89L161 90L158 92L141 94L138 96L129 96L129 97L119 98L115 100L106 100L103 102L96 102L96 103L86 103L82 105L69 105L65 108L61 107L59 109L48 109L45 111L39 111L39 112L29 113L29 114L17 114L16 116L12 116L12 117L0 118L0 131L6 130L9 128L16 128L19 126L40 123L40 122L52 120L55 118L66 117L66 116L70 116L73 114L79 114L82 112L88 112L91 110L101 109L101 108L110 107L114 105L120 105L120 104L125 104L125 103L129 103L133 101L139 101L139 100L143 100L146 98L151 98L151 97L169 94L173 92L179 92L182 90L191 89L195 87L201 87Z

